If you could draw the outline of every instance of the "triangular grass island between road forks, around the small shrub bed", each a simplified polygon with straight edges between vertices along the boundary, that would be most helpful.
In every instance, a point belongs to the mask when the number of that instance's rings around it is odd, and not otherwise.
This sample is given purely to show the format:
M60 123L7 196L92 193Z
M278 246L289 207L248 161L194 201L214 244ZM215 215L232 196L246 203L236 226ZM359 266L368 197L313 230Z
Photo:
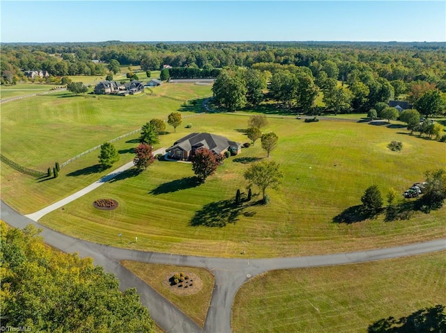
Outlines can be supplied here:
M134 275L137 275L155 291L163 295L164 298L174 303L178 309L187 314L198 325L204 326L214 288L212 273L204 268L139 263L136 261L122 261L121 263L125 268L131 270ZM201 290L193 295L178 295L172 292L163 281L167 276L171 276L171 273L179 272L198 275L202 282Z

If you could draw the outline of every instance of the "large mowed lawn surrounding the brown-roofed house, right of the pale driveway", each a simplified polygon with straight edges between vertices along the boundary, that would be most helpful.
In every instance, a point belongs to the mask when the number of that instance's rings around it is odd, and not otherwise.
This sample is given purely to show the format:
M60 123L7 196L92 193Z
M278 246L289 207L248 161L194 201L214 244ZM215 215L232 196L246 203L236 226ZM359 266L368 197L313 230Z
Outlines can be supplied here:
M206 114L191 122L192 129L162 136L161 145L192 131L246 141L245 116ZM409 220L385 222L381 215L333 222L359 205L372 184L385 196L391 187L403 193L423 181L426 170L443 166L443 143L408 136L400 127L352 120L305 123L271 117L265 131L279 136L270 159L281 163L285 174L279 191L267 191L271 202L266 206L255 204L259 197L240 209L232 205L238 188L247 192L244 170L266 156L257 143L227 159L205 184L194 183L187 163L157 161L141 174L126 172L41 222L98 243L121 246L116 235L122 233L127 247L222 257L344 252L445 237L444 208L415 211ZM403 151L387 149L390 140L403 141ZM91 203L100 197L118 200L118 209L95 210ZM135 236L141 241L130 244Z

